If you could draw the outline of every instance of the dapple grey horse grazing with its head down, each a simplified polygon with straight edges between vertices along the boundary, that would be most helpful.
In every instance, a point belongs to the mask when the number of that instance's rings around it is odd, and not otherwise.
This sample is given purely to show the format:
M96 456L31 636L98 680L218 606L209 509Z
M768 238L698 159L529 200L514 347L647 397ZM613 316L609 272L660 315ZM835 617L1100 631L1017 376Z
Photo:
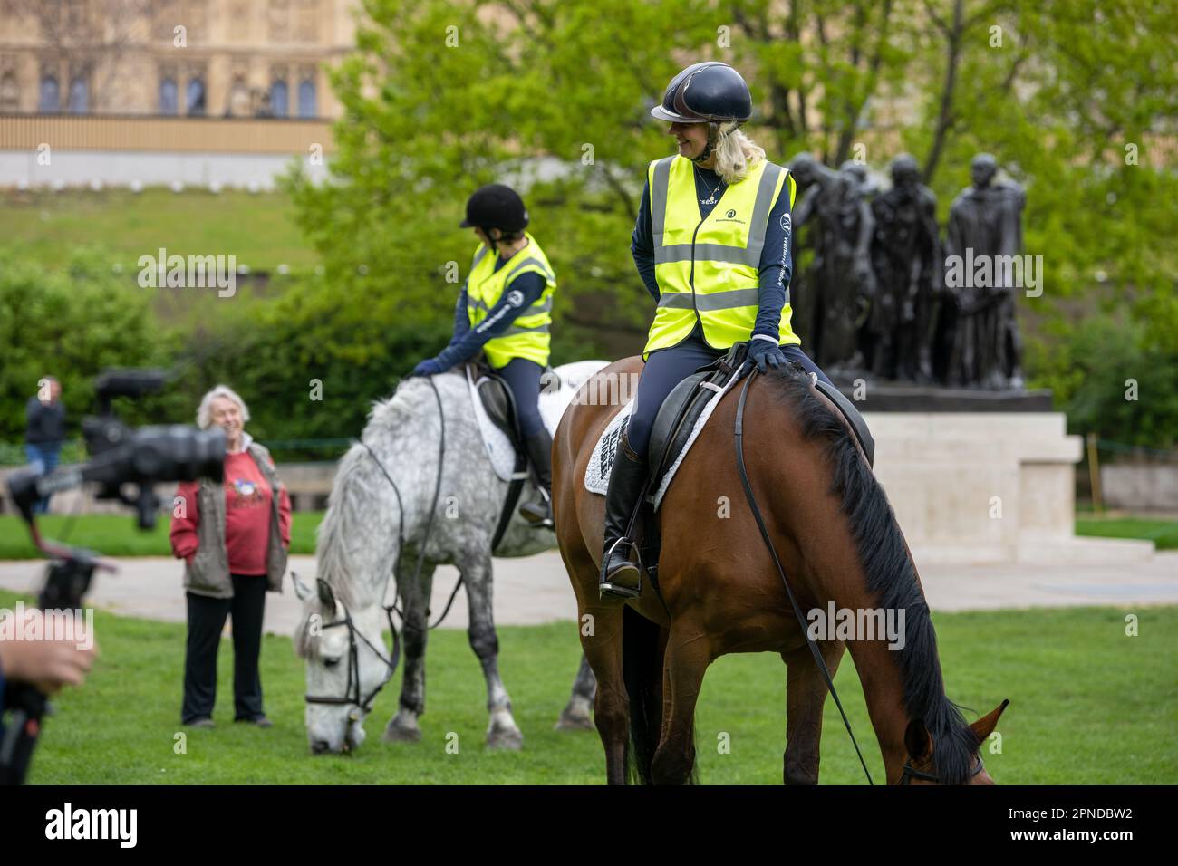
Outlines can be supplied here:
M575 378L580 369L583 379L590 372L585 364L591 370L602 366L580 362L555 372ZM312 752L344 752L364 741L364 719L397 662L397 654L386 654L382 640L389 626L399 646L391 609L384 604L395 569L405 670L399 708L384 739L421 739L428 606L439 564L456 566L466 590L470 646L487 680L487 745L521 748L523 734L499 677L491 609L491 547L508 484L495 474L487 455L462 375L403 381L390 399L373 406L362 443L339 462L318 530L317 591L296 580L303 616L294 649L306 660L306 732ZM495 555L529 556L555 543L551 530L532 528L512 508ZM594 688L593 672L582 659L558 728L591 729Z

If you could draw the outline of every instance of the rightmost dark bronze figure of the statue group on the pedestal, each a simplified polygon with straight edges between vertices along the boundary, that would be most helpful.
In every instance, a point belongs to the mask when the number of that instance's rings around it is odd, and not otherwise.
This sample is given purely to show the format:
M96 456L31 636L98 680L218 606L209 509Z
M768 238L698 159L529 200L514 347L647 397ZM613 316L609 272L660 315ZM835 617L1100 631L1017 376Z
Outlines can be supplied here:
M998 163L988 153L973 158L973 186L961 191L949 209L946 262L961 257L966 263L964 280L951 279L953 297L953 349L948 359L949 384L978 384L984 388L1021 388L1023 344L1014 313L1011 269L998 266L998 257L1023 252L1021 186L994 183ZM980 279L969 263L988 260ZM952 269L949 269L952 271ZM954 283L960 282L960 285ZM981 283L979 285L978 283Z

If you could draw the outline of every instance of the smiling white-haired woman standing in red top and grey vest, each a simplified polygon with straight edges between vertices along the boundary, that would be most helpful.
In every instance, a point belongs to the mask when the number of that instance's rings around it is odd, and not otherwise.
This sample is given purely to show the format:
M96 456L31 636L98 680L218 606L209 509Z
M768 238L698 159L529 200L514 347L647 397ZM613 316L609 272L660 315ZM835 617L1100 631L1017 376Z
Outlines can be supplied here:
M217 649L225 617L233 622L234 721L270 727L262 709L262 619L266 590L280 593L291 540L291 503L270 452L245 432L250 410L225 385L200 401L197 425L225 431L225 482L201 478L177 488L172 553L185 561L188 639L183 723L213 727Z

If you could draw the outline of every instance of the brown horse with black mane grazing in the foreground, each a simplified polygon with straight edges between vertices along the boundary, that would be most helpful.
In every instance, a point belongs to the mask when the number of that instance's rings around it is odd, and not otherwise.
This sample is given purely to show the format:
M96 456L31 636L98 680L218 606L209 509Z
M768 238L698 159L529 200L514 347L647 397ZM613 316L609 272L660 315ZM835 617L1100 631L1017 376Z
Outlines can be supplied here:
M640 370L638 358L626 358L598 376ZM793 366L754 373L726 394L679 467L657 513L662 600L646 573L637 599L598 597L604 497L587 491L584 478L618 406L578 397L561 419L552 507L581 620L591 623L581 642L597 676L608 781L694 781L694 712L708 665L727 653L773 652L788 667L785 781L818 784L827 687L746 500L734 436L744 386L749 485L801 609L834 602L904 614L895 649L884 635L816 643L832 677L851 649L887 781L992 784L978 747L1006 702L967 725L945 696L928 606L884 489L833 403Z

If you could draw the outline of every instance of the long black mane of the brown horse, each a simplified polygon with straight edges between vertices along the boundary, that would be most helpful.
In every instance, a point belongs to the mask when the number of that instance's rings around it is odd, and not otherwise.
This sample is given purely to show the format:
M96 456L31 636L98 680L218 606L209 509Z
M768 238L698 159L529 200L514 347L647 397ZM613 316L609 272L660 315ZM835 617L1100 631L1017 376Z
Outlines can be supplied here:
M961 708L945 695L937 634L895 513L874 472L859 454L851 430L810 391L809 373L787 365L767 377L787 401L807 439L826 441L834 470L830 493L840 498L867 576L867 589L884 609L905 609L905 644L898 652L904 707L922 719L933 738L932 761L945 785L969 780L978 738Z

